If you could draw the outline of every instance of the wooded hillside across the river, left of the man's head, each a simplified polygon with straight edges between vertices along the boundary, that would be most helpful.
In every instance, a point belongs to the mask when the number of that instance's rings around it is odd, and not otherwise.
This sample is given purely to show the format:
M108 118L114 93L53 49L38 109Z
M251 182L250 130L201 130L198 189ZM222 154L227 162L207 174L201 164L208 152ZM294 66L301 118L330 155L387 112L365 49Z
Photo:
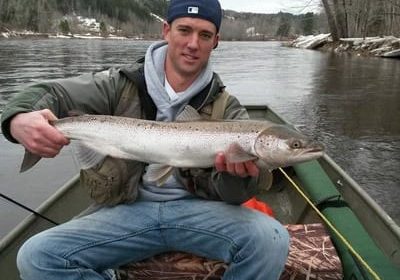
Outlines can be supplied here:
M79 33L76 16L94 18L125 35L159 31L150 13L165 14L165 0L0 0L0 27L39 33ZM156 28L156 29L155 29Z

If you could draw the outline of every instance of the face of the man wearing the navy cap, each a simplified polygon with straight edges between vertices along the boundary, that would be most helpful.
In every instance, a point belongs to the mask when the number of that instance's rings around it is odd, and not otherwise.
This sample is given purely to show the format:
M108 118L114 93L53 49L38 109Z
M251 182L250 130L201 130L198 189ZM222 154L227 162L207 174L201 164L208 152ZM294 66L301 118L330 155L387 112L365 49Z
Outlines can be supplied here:
M183 17L163 26L168 42L166 71L193 78L207 64L211 51L218 43L215 25L199 18Z

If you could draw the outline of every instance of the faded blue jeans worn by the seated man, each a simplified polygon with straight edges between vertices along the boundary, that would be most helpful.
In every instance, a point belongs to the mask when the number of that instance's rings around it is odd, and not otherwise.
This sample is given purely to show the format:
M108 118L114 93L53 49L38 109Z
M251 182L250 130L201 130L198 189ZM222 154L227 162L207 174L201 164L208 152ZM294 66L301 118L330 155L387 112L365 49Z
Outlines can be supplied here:
M245 207L197 198L137 201L73 219L21 247L24 280L110 279L110 268L166 251L229 263L223 279L278 279L287 258L286 229Z

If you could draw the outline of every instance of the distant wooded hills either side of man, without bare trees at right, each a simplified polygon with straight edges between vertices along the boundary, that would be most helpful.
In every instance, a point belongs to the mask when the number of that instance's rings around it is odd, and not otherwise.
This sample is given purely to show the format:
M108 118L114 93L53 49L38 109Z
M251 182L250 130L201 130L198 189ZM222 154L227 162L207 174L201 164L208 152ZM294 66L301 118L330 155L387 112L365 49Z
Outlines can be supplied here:
M160 36L166 0L0 0L0 32L82 33L76 16L94 18L101 33L154 38ZM225 40L290 38L326 31L318 14L256 14L225 10L221 37Z

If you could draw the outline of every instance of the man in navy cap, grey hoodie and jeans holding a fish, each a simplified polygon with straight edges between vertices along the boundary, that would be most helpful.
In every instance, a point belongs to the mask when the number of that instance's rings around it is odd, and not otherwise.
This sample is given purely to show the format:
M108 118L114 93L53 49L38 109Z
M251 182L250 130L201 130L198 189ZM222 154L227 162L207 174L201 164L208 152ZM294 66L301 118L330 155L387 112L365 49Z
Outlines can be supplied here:
M172 0L167 16L165 42L149 47L144 67L30 87L5 109L4 135L32 153L54 157L69 140L49 120L72 109L173 121L187 104L200 112L217 104L224 86L209 57L219 40L218 0ZM248 117L232 96L224 107L226 119ZM112 279L112 268L171 250L225 261L224 279L279 278L287 232L274 219L234 205L263 183L254 162L229 163L221 151L214 168L176 170L161 187L142 177L149 168L106 158L82 171L83 184L103 207L29 239L17 258L21 278ZM114 175L119 179L110 182Z

